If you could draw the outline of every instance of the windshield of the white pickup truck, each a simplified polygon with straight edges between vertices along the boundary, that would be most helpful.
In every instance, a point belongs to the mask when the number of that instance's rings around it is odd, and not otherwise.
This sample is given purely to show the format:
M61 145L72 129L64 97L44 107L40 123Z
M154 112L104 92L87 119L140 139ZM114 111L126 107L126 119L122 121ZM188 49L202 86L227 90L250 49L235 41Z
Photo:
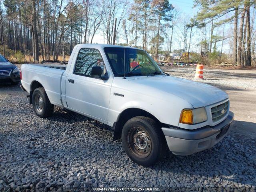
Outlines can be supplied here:
M105 47L104 51L115 76L124 76L124 74L126 76L164 74L156 62L143 50Z

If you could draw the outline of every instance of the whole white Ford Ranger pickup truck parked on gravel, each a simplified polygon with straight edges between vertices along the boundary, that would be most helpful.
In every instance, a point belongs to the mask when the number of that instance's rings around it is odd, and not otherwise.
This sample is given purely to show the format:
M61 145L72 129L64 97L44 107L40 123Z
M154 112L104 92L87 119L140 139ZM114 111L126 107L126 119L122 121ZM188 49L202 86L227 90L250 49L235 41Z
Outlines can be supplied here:
M234 119L224 91L162 72L138 48L79 44L66 67L24 64L21 74L37 116L50 116L57 105L107 124L143 166L166 149L189 155L211 148Z

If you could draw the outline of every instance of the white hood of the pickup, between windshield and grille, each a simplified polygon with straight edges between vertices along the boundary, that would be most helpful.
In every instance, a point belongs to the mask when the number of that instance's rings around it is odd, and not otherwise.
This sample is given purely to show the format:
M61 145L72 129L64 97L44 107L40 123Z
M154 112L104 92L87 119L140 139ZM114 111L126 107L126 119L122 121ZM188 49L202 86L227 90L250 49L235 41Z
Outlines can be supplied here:
M228 98L226 92L208 84L172 76L131 78L131 82L143 84L154 91L166 92L189 102L194 108L208 106Z

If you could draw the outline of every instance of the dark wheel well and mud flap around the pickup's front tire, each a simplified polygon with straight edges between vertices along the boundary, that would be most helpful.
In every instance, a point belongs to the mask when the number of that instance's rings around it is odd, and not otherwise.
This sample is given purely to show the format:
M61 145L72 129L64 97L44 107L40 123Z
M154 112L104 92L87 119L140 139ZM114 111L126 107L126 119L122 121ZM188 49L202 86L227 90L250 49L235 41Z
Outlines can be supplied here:
M151 118L156 121L157 124L161 124L161 122L152 114L149 112L139 109L139 108L128 108L124 110L118 117L117 122L114 122L113 128L114 128L114 136L113 140L118 140L121 138L122 129L124 124L131 118L136 116L145 116L148 118Z

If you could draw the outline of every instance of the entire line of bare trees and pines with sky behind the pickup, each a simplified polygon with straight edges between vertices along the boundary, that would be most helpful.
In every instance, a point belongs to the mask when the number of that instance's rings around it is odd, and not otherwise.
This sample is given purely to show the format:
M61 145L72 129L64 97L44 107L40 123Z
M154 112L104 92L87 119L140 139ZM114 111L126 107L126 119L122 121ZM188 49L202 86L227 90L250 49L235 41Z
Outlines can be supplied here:
M156 59L176 52L188 61L225 56L240 66L255 62L255 0L195 0L198 12L189 16L170 2L0 0L0 52L39 62L65 59L76 44L98 42L139 47Z

